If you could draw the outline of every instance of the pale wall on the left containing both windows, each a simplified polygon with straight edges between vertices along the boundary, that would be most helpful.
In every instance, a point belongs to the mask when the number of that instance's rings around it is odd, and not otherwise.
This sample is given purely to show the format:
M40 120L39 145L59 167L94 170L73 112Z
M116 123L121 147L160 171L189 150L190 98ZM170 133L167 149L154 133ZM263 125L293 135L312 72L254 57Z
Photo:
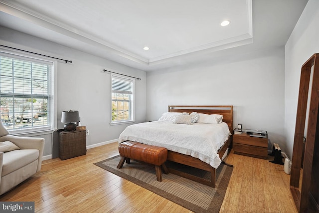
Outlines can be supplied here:
M142 78L136 80L136 123L146 120L146 72L86 54L47 40L0 27L1 44L53 57L72 60L58 63L57 124L63 128L61 114L78 110L81 125L90 130L87 146L114 141L128 125L110 126L110 74L103 69ZM37 137L40 137L37 135ZM51 138L47 135L45 155L52 154Z

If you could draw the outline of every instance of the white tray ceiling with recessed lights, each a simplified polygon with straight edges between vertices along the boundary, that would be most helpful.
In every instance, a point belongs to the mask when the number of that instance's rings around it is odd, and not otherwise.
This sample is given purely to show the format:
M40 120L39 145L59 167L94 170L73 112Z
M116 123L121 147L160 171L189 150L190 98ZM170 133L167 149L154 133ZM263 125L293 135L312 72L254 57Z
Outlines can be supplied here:
M0 25L155 70L282 46L307 1L0 0Z

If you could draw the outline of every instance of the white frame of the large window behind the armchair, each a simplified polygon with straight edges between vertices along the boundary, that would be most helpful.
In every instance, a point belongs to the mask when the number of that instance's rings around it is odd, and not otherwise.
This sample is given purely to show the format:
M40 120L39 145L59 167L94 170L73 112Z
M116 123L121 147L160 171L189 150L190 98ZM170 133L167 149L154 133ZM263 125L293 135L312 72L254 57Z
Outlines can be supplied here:
M30 60L31 62L45 62L52 64L51 66L51 78L48 81L48 104L50 103L50 123L45 126L21 128L21 129L8 129L11 135L19 134L32 134L38 132L51 132L57 129L57 70L58 61L55 59L49 59L47 57L39 56L32 53L21 52L18 50L12 50L6 47L0 47L0 54L2 56L12 57L13 59Z

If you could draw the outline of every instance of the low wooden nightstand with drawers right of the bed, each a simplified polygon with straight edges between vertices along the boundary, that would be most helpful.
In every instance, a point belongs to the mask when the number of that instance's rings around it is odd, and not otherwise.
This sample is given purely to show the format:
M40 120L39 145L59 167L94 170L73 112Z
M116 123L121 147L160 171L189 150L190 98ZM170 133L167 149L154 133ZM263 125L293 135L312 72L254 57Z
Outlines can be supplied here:
M267 131L234 129L233 149L235 154L247 155L256 158L268 157Z

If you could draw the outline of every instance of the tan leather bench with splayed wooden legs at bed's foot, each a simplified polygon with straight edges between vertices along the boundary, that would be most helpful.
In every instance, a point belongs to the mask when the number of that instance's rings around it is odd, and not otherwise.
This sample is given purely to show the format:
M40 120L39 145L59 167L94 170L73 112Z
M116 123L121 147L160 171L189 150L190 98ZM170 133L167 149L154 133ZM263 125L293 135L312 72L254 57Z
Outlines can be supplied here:
M125 161L129 164L130 160L134 159L155 165L158 181L161 181L161 169L165 174L168 174L168 170L164 164L167 159L166 148L141 144L133 141L125 141L119 144L119 153L121 160L117 166L118 169L123 167Z

